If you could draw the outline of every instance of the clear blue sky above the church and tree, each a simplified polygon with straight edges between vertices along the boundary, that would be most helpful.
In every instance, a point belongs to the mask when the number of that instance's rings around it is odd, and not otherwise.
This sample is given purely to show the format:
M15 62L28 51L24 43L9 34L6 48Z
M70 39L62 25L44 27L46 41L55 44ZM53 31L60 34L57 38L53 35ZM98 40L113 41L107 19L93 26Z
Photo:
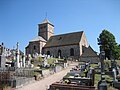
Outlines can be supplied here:
M24 51L46 17L55 35L84 31L97 52L103 29L120 44L120 0L0 0L0 43L12 49L19 42Z

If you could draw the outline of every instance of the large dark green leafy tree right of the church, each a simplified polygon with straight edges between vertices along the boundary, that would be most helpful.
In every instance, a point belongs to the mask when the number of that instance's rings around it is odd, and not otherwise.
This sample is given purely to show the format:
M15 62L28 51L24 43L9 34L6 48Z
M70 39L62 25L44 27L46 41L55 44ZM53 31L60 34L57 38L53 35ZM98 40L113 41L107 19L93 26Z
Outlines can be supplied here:
M108 59L119 59L120 46L117 45L114 35L108 30L103 30L99 35L98 44L100 45L100 50L105 51L105 57Z

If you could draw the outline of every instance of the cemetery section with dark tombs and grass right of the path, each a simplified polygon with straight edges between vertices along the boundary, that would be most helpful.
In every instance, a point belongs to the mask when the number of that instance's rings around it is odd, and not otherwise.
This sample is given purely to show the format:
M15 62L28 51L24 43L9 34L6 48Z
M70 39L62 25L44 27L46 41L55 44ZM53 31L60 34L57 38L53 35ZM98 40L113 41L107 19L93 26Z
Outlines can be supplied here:
M59 82L50 85L49 90L118 90L120 89L120 61L104 60L101 62L79 62Z

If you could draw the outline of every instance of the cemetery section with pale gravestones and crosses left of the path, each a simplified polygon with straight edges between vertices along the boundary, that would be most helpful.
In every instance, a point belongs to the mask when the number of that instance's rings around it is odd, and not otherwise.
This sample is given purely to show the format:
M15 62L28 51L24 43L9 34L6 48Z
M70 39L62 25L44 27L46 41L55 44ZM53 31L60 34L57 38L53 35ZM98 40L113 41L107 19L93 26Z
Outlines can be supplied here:
M9 59L4 44L0 47L0 90L19 88L67 68L65 59L47 55L26 56L20 53L19 43L16 46Z

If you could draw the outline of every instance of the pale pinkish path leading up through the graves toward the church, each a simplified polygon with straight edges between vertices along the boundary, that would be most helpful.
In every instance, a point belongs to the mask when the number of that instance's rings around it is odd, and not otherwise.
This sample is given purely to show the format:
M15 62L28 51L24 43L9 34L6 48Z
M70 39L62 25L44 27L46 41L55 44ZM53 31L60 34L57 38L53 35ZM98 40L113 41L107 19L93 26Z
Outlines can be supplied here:
M69 72L70 69L73 68L75 65L77 65L77 63L70 64L70 66L67 69L64 69L58 73L50 75L40 81L35 81L34 83L22 86L21 88L18 88L16 90L47 90L46 88L49 85L56 81L60 81L67 74L67 72Z

